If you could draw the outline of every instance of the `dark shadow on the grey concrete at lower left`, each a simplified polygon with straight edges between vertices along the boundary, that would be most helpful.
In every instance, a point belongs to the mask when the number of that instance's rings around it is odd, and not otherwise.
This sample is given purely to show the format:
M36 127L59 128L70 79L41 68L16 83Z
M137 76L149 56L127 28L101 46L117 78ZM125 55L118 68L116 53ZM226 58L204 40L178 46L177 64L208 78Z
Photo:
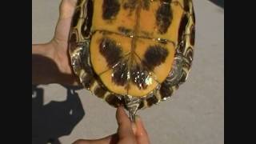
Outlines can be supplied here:
M59 144L58 138L69 135L84 117L76 88L66 88L66 101L43 105L42 88L32 86L32 144Z

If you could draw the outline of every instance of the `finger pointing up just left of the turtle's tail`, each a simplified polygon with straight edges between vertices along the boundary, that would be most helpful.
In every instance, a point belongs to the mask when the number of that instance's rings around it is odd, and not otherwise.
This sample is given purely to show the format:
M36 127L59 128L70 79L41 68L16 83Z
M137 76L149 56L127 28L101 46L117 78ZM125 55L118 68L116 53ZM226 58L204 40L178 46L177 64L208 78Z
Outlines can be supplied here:
M130 122L130 118L127 116L122 106L118 107L116 117L118 121L119 139L130 138L134 141L135 135L132 129L132 123Z

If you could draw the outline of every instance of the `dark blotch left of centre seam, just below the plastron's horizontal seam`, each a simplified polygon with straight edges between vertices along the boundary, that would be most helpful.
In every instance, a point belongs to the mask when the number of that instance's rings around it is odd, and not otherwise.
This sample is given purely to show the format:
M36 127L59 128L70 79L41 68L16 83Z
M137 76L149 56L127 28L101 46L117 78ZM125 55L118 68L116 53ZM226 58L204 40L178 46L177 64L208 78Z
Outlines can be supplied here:
M121 47L117 46L116 42L110 38L102 38L99 51L106 58L109 67L114 66L122 58Z

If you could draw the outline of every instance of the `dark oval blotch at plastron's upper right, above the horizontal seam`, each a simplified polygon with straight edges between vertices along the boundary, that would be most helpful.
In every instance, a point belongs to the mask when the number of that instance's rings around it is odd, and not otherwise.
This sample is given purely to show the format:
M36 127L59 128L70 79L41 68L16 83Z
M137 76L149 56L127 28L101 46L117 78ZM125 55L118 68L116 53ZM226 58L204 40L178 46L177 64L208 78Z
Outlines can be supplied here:
M160 34L165 34L172 21L173 14L170 4L162 3L156 13L156 22Z

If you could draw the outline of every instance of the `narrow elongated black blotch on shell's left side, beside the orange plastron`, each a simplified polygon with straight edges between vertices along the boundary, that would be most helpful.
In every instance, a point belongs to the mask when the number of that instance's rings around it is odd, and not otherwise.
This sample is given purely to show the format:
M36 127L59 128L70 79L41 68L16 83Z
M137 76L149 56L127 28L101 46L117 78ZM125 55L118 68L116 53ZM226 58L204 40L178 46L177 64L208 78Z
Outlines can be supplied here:
M93 2L89 0L87 3L87 17L85 21L82 23L82 36L85 38L88 37L88 35L90 34L90 27L92 25L92 19L93 19L93 11L94 11Z

